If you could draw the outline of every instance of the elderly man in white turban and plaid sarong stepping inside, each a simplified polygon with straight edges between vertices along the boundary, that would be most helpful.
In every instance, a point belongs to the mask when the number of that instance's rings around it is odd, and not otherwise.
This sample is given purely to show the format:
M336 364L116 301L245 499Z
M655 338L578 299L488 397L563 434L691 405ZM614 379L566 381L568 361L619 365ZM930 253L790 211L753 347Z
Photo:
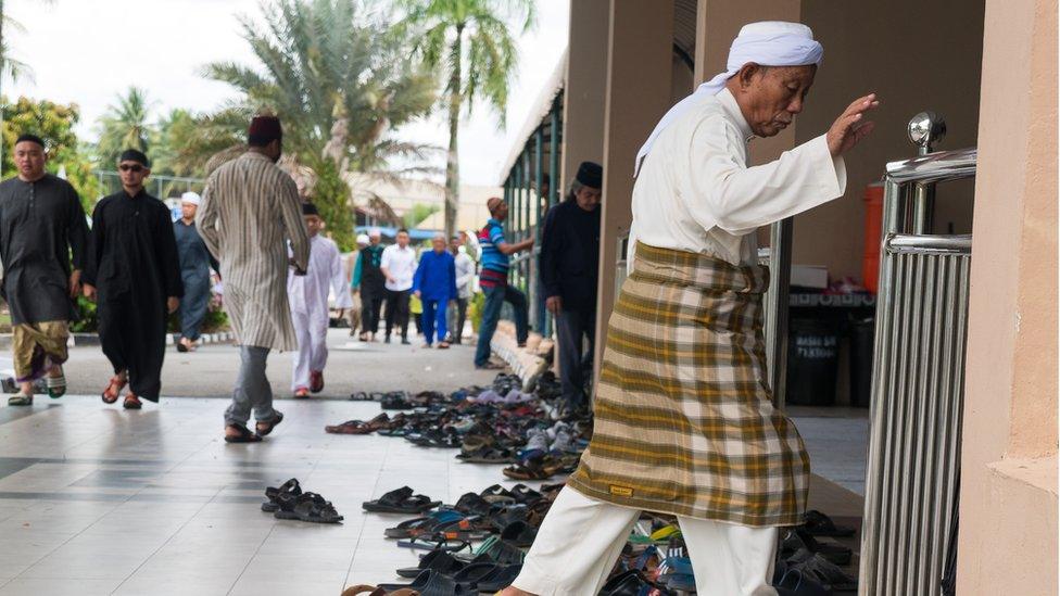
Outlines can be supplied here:
M792 124L822 53L803 25L745 26L728 69L639 153L592 443L505 596L595 595L641 510L677 516L702 596L775 594L777 529L800 521L809 458L771 405L755 230L843 195L842 154L879 103L768 164L747 166L747 142Z

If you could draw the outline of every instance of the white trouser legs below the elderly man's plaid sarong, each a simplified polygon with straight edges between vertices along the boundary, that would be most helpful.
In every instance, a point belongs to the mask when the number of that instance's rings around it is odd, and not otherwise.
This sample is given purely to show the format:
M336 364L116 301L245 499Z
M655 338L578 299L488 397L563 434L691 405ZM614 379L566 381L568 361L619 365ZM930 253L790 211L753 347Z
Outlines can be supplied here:
M513 586L538 596L596 596L641 512L565 487ZM775 596L775 528L679 517L701 596Z

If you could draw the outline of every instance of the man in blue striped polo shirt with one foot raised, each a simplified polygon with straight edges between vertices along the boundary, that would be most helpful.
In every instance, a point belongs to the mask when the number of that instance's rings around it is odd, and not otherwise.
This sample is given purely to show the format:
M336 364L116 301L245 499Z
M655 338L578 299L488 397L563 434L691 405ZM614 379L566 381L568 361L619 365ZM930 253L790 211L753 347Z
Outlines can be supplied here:
M530 333L527 324L527 296L518 289L508 286L508 257L533 248L533 239L528 238L514 244L504 239L504 220L508 217L508 204L496 196L485 202L490 210L490 220L479 230L479 245L482 250L482 271L479 286L485 294L482 308L482 322L479 325L479 344L475 350L475 368L501 368L490 363L490 341L496 331L501 307L505 302L515 310L516 339L519 345L527 343Z

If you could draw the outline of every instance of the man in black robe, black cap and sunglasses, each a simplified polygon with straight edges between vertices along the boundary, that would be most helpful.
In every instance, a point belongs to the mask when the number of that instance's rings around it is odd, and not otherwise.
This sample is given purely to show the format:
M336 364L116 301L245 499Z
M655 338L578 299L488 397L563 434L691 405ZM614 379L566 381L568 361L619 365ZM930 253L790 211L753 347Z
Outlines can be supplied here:
M143 189L147 155L122 153L122 190L104 196L92 214L92 251L85 293L98 301L99 334L114 377L103 391L112 404L129 384L124 406L159 401L165 357L166 316L180 305L184 282L169 208Z

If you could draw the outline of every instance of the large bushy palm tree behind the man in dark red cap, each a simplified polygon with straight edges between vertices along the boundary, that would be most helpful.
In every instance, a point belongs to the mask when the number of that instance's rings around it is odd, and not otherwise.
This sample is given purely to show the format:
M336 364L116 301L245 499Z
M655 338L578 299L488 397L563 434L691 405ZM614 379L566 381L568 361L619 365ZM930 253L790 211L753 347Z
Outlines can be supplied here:
M389 131L430 112L437 81L393 35L389 16L361 0L272 0L262 11L264 27L242 20L260 65L223 62L205 68L207 77L241 91L240 102L223 115L247 115L217 118L212 138L241 143L250 114L279 116L285 152L314 172L313 201L327 214L336 241L350 249L353 204L346 175L429 170L416 163L429 148L400 142ZM202 140L192 145L211 145ZM222 158L238 151L229 147ZM209 160L207 169L218 161Z

